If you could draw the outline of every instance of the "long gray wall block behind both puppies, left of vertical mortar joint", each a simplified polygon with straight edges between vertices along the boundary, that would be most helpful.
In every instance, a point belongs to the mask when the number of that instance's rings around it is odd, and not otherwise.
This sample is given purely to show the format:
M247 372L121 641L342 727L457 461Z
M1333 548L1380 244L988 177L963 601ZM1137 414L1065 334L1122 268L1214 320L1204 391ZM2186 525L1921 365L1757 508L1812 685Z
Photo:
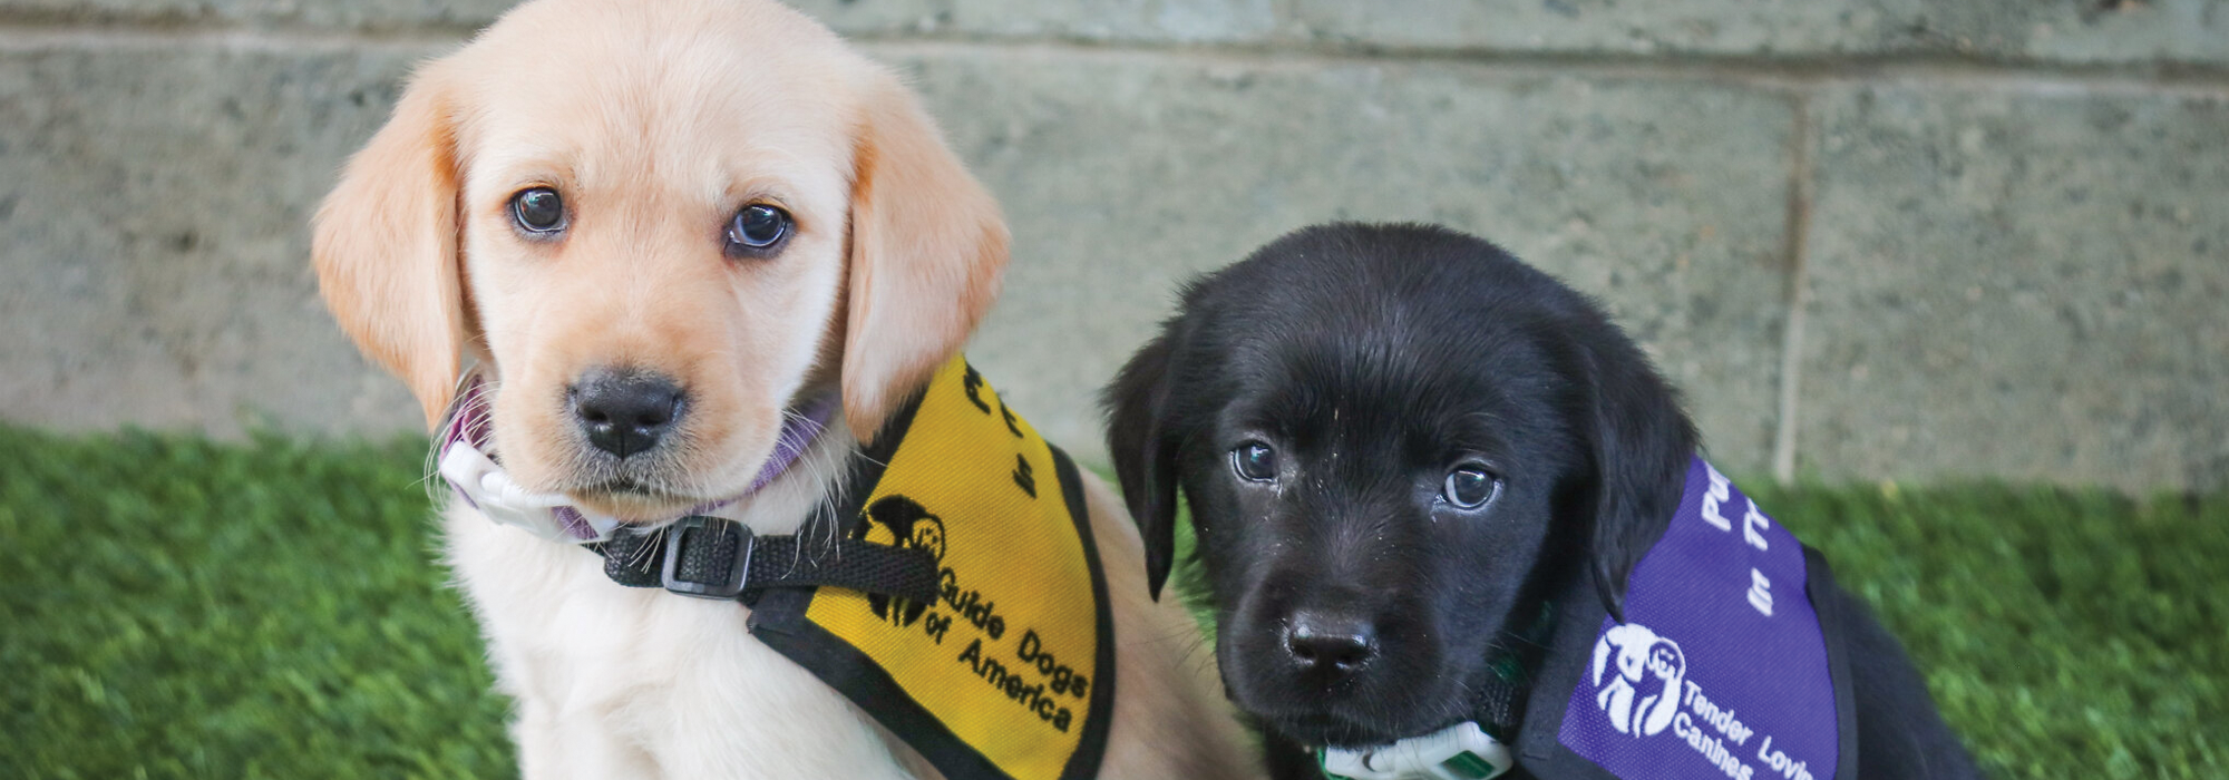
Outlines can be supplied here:
M1772 426L1790 109L1743 89L1471 67L878 47L1008 203L974 354L1099 457L1094 390L1184 276L1322 218L1429 218L1605 294L1721 457ZM415 51L412 51L415 53ZM334 332L308 209L412 53L16 53L0 80L11 419L408 430ZM20 368L20 370L13 370Z

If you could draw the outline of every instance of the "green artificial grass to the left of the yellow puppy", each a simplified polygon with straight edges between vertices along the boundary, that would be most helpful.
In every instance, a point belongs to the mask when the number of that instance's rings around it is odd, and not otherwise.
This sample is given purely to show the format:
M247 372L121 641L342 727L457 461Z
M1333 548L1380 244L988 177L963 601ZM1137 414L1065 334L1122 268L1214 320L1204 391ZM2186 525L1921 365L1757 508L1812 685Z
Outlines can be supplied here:
M0 428L0 778L517 776L421 459Z

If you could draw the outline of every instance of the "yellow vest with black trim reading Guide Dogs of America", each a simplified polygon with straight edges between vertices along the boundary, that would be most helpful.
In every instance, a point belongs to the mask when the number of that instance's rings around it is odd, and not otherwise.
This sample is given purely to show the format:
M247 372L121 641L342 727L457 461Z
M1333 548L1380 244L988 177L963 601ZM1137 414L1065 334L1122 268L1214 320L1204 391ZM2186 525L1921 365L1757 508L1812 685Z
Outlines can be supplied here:
M938 557L936 604L769 591L751 635L802 664L952 780L1099 773L1114 624L1083 484L965 359L858 459L854 539Z

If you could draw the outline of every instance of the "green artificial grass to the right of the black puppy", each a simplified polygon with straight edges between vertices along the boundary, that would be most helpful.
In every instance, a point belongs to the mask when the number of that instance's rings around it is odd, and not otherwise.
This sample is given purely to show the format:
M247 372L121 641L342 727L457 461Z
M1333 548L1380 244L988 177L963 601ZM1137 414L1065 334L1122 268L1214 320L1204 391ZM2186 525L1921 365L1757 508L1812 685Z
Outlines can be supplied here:
M1995 778L2229 778L2229 497L1743 486Z

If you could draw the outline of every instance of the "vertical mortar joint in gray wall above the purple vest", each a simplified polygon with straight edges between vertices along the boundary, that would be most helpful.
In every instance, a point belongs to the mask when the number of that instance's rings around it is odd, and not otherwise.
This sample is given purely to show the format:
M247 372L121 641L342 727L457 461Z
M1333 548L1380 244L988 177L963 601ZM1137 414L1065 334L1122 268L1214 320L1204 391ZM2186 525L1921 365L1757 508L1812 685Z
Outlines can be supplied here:
M1810 321L1810 212L1812 212L1812 107L1810 94L1788 98L1794 123L1788 131L1788 321L1781 328L1781 397L1772 430L1772 477L1797 479L1797 432L1803 428L1803 328Z

